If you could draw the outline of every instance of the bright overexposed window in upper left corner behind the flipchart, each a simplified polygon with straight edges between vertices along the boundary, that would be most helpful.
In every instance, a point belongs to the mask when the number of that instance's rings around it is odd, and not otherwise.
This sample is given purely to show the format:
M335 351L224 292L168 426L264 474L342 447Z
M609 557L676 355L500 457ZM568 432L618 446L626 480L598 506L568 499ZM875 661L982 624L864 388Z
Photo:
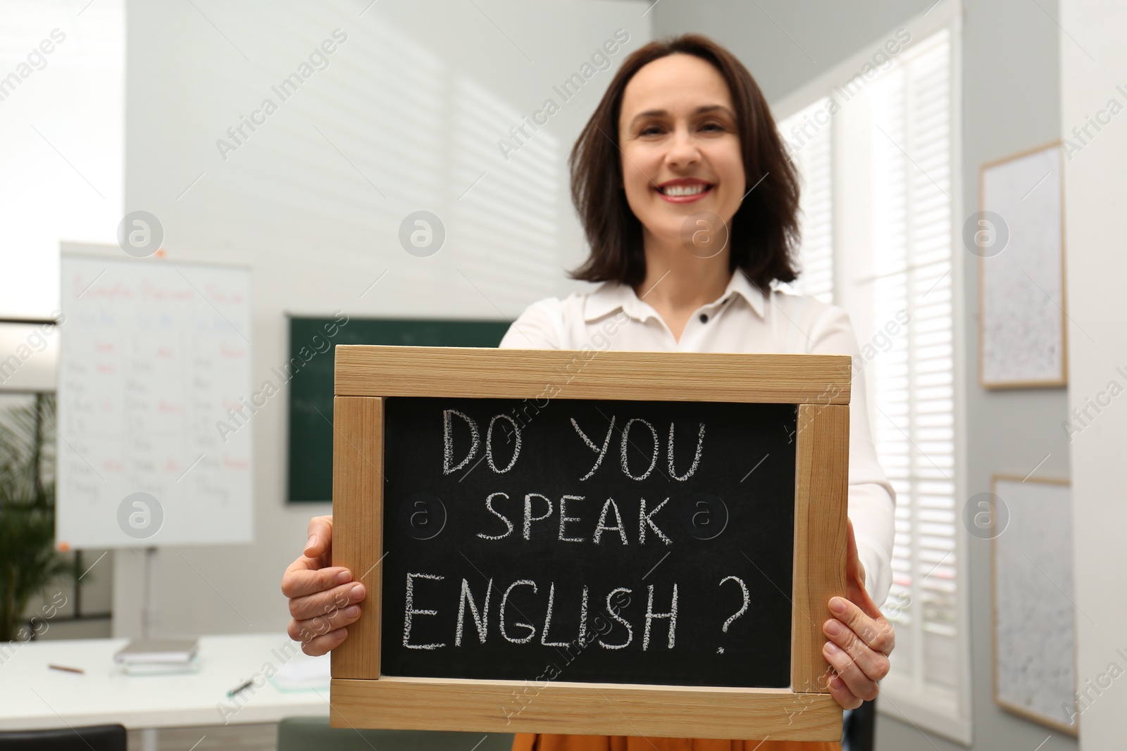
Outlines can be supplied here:
M116 244L125 173L125 3L85 5L5 3L0 318L56 315L60 241Z

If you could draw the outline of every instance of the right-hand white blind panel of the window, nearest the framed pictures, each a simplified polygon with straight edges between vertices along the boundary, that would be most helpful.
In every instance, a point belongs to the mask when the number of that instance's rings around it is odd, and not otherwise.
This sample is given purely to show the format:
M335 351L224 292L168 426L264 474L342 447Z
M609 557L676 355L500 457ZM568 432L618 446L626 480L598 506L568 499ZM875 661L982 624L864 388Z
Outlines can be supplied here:
M956 688L949 33L872 84L873 314L911 316L873 360L875 440L897 493L897 668Z

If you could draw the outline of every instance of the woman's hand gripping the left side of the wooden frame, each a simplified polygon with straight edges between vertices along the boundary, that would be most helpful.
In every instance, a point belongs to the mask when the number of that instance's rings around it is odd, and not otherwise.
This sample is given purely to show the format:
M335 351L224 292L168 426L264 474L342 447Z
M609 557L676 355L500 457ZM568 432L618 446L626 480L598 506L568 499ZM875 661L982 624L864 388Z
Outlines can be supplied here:
M301 642L301 651L325 654L345 641L350 623L360 618L364 584L352 580L344 566L332 561L332 516L309 520L305 552L290 564L282 576L282 593L290 598L293 619L286 632Z

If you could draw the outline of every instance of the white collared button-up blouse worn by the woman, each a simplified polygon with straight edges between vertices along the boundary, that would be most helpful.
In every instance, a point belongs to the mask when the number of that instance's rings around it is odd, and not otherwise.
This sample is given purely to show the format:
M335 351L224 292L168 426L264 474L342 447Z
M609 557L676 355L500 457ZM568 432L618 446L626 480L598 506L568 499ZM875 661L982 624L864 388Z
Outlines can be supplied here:
M645 295L644 295L645 296ZM677 341L649 303L628 285L607 281L591 293L538 301L509 327L502 347L672 352L797 352L851 355L849 517L866 589L877 605L893 582L891 549L896 492L877 463L869 431L864 375L849 314L813 297L772 290L770 298L744 276L703 305Z

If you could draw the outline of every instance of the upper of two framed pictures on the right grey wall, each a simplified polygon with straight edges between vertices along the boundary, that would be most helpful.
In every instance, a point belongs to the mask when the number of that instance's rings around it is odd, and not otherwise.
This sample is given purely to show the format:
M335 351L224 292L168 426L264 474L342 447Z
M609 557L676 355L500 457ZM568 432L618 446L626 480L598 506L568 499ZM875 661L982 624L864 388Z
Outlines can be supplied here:
M979 383L1064 386L1064 163L1056 141L983 164L964 226L978 256Z

